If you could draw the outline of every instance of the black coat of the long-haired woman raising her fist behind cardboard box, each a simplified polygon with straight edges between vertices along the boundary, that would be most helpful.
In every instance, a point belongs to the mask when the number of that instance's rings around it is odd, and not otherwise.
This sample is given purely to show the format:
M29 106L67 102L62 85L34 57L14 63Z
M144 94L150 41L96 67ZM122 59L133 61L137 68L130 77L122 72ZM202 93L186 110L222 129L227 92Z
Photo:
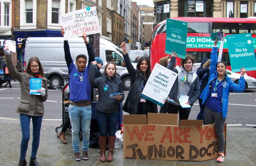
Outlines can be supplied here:
M124 60L125 60L126 68L129 72L129 75L131 76L131 88L129 90L124 106L122 107L122 110L124 110L129 114L137 114L141 93L144 85L144 78L140 72L134 69L131 61L129 60L128 53L124 55ZM146 101L146 103L150 103L149 106L152 106L152 107L148 107L149 109L147 109L145 113L146 112L158 113L157 105L155 103L152 103L150 101Z

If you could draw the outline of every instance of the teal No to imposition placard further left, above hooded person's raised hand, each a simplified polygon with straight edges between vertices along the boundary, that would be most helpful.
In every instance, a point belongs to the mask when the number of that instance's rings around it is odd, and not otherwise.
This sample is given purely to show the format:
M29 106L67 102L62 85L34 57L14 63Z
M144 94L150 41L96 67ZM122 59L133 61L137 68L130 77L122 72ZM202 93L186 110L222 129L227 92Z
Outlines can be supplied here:
M174 51L178 54L179 58L185 59L188 23L168 18L166 22L165 53L171 55Z

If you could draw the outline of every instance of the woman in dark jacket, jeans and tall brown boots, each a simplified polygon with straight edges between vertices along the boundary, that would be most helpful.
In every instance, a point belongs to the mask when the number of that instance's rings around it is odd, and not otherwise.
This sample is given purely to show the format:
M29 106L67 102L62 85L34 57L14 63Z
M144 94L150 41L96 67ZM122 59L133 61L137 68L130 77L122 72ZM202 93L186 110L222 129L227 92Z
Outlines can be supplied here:
M115 146L115 128L119 120L119 103L124 100L124 95L118 95L115 98L110 98L111 94L124 93L122 81L116 75L116 66L113 62L106 64L104 73L101 77L95 78L95 67L97 61L92 62L92 67L89 71L89 82L98 88L99 99L96 104L96 118L100 129L100 161L113 161L114 146ZM109 151L106 159L106 142L109 142Z

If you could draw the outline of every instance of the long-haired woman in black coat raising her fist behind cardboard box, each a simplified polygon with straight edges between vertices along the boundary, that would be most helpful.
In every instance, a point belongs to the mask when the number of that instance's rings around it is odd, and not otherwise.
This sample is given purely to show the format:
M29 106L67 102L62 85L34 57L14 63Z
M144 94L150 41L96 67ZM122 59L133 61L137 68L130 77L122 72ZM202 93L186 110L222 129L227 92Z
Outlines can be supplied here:
M125 42L120 47L124 52L126 68L131 76L131 88L122 109L129 114L158 113L155 103L141 97L143 88L151 73L149 59L141 57L135 70L127 53Z

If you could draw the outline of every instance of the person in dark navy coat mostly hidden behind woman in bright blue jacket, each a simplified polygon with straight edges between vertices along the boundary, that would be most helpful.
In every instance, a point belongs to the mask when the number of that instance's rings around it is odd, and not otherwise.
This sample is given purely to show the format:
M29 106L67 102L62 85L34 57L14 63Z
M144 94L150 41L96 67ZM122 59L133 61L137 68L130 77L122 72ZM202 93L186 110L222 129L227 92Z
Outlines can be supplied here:
M199 85L200 85L200 94L202 93L202 91L205 89L207 83L208 83L208 79L210 76L210 59L209 58L205 58L202 60L201 62L201 66L197 69L196 73L198 75L199 78ZM200 95L199 94L199 95ZM199 106L200 106L200 112L198 113L197 116L197 120L203 120L203 124L205 124L205 104L203 104L203 100L199 97L198 98L199 101Z

